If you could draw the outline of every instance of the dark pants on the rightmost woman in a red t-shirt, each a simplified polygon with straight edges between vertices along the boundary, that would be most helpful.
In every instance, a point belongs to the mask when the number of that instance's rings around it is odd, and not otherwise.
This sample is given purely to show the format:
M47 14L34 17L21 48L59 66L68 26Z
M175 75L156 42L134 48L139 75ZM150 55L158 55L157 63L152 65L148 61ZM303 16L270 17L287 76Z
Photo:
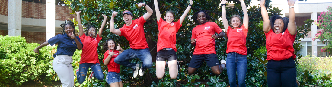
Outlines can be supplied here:
M292 58L281 61L269 60L267 67L269 87L297 87L296 67Z

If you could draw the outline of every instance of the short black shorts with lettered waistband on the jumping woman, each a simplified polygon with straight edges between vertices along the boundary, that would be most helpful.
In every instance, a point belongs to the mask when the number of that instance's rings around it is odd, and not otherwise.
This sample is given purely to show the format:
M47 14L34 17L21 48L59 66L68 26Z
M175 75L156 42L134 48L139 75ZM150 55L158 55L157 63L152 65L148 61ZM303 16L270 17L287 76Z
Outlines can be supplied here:
M173 48L164 48L160 51L157 52L157 61L172 61L172 60L176 60L177 56L176 56L176 52Z

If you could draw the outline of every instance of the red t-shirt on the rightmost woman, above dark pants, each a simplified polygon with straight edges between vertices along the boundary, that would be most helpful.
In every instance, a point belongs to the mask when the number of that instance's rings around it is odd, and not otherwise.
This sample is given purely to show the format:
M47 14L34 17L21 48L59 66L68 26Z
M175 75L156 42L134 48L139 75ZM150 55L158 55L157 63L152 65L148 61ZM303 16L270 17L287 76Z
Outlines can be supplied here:
M296 55L294 54L294 41L295 35L290 35L288 29L285 32L276 34L271 29L266 36L266 50L268 52L266 60L286 60L292 57L294 60Z

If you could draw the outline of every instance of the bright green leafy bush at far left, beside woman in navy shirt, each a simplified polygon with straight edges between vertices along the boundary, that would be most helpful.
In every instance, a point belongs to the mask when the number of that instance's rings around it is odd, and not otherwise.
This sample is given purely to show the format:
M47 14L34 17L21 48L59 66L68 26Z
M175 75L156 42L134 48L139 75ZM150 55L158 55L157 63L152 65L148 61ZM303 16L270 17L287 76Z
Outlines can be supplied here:
M0 86L21 86L28 80L42 80L48 69L48 50L43 47L40 55L33 52L39 44L28 44L21 36L0 36ZM50 83L50 82L48 82Z

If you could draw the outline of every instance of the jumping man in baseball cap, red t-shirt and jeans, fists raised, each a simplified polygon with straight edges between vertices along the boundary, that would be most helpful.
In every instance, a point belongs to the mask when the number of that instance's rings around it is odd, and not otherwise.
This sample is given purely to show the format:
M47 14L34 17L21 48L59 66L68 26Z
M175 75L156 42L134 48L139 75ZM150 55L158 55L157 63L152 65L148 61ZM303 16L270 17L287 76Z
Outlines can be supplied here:
M137 5L138 7L145 7L147 13L138 19L132 20L131 12L124 11L122 13L122 17L125 24L119 29L114 28L114 17L118 14L117 12L113 12L110 21L110 31L116 35L124 36L130 44L130 48L119 54L114 59L114 62L119 65L132 68L134 78L137 76L139 64L130 63L129 60L138 58L142 61L141 68L139 70L140 76L143 76L144 72L152 66L152 58L149 47L146 43L143 26L146 20L152 15L153 11L145 3L138 3Z

